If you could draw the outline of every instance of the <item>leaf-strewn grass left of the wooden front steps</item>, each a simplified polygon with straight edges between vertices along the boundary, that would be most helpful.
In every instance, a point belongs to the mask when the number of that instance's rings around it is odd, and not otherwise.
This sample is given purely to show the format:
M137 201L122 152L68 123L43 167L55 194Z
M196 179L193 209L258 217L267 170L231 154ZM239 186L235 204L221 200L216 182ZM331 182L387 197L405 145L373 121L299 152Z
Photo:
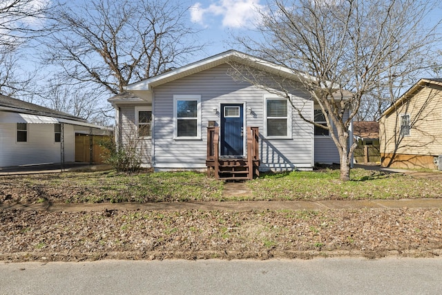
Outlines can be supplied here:
M158 173L66 172L0 178L23 188L26 202L184 202L220 200L223 183L193 171ZM18 195L18 193L17 193Z

